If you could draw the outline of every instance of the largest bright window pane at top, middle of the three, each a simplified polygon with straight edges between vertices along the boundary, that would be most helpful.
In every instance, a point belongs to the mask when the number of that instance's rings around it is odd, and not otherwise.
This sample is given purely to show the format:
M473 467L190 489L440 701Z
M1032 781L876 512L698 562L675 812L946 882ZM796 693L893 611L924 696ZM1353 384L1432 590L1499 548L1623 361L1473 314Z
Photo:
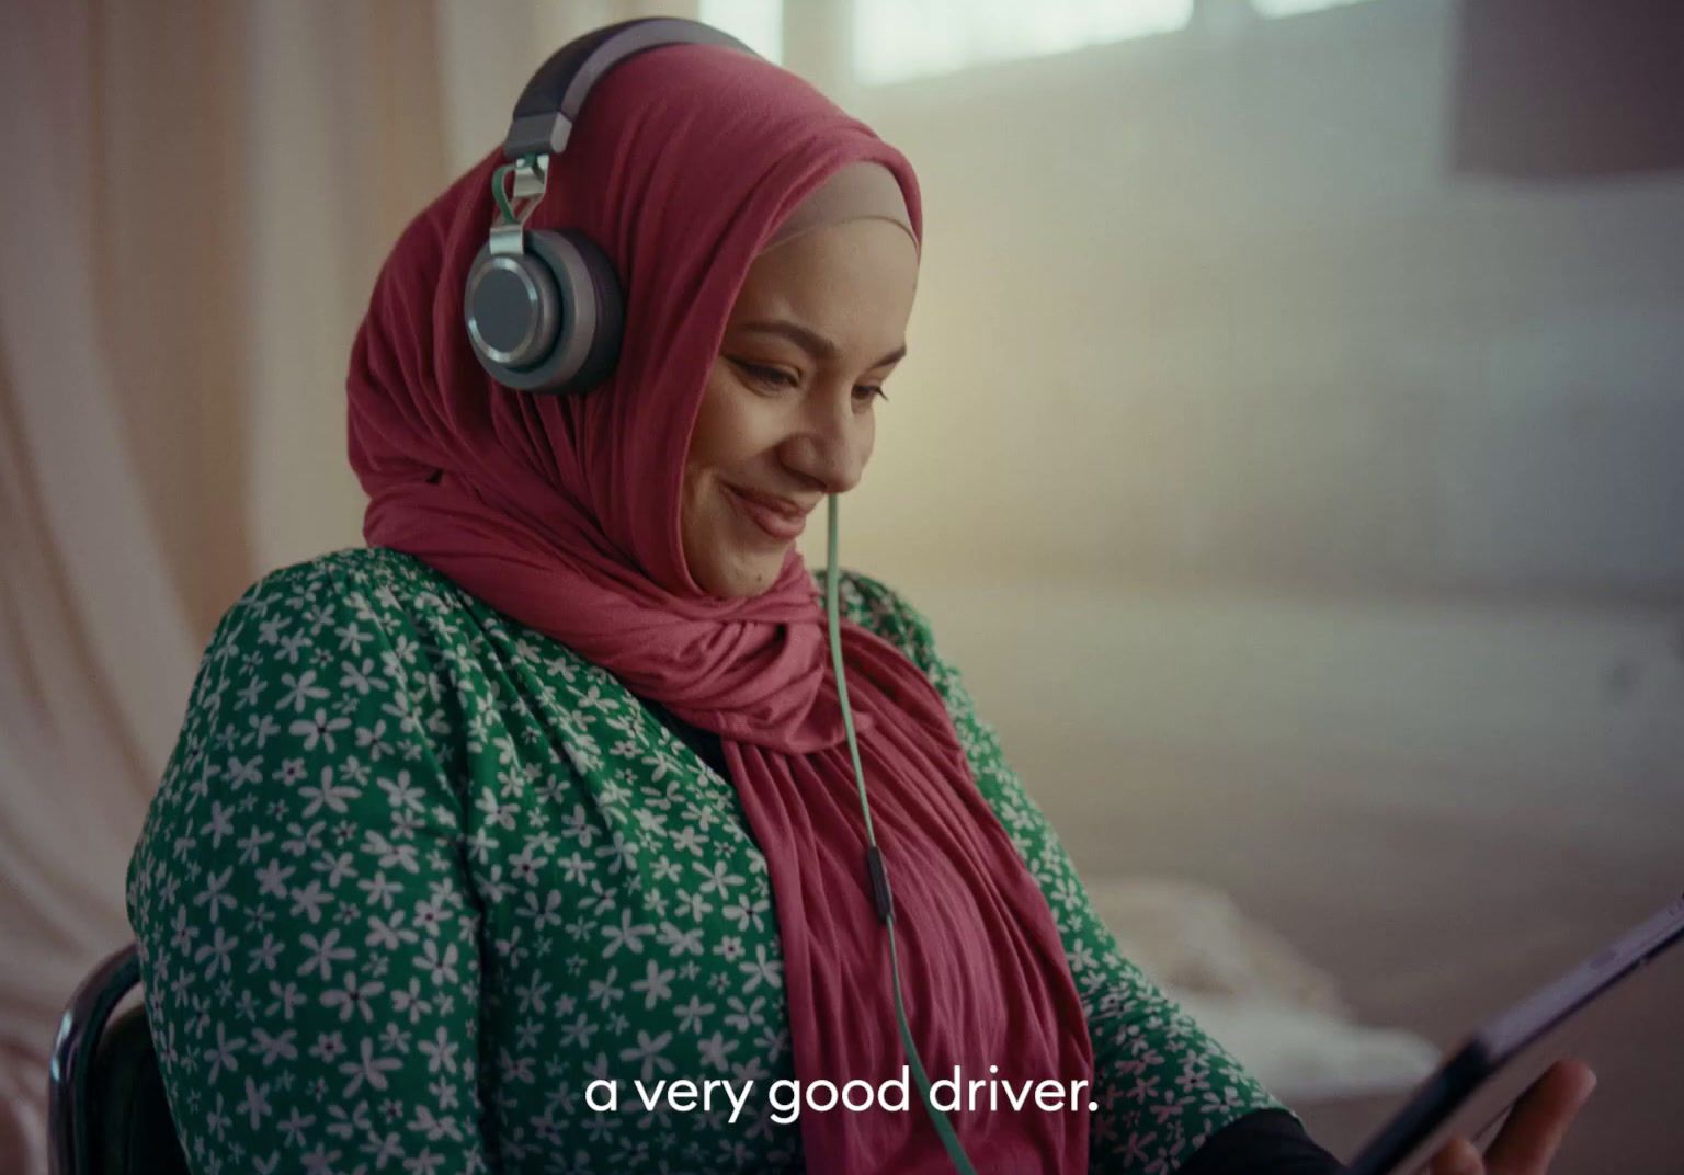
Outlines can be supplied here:
M854 0L854 69L861 84L881 86L1175 32L1192 2Z

